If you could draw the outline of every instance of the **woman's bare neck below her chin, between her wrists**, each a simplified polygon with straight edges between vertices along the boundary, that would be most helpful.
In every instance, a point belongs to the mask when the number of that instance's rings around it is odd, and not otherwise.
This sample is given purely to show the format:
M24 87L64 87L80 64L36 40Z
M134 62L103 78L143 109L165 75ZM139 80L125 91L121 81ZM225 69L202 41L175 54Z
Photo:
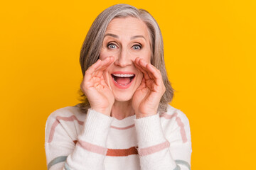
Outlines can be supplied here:
M130 101L114 101L111 110L111 116L122 120L131 115L134 115L134 109L132 108L132 100Z

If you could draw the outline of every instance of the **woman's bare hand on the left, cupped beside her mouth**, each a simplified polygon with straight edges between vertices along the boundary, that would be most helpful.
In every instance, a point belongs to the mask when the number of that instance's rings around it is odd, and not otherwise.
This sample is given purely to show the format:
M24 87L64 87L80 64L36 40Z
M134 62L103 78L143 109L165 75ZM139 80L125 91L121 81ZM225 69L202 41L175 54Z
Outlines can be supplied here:
M105 115L111 113L114 104L114 96L107 86L103 72L114 62L114 57L107 57L105 60L97 60L86 72L80 88L90 103L90 107Z

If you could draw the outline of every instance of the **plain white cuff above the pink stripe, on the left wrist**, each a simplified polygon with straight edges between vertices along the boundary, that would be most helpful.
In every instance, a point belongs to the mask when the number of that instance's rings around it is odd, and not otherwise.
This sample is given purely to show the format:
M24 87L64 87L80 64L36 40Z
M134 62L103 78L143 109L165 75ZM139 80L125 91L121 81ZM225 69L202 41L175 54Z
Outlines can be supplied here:
M95 145L105 146L112 120L114 120L114 118L89 108L84 129L78 139L91 142Z

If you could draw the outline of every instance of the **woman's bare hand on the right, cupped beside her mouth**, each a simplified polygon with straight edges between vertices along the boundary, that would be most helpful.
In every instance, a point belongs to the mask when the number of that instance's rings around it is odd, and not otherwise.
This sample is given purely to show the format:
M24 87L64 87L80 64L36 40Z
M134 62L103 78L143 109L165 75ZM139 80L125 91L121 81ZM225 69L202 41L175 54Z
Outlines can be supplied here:
M132 106L137 118L144 118L157 113L161 97L166 88L161 72L152 64L137 57L134 64L143 74L142 84L135 91Z

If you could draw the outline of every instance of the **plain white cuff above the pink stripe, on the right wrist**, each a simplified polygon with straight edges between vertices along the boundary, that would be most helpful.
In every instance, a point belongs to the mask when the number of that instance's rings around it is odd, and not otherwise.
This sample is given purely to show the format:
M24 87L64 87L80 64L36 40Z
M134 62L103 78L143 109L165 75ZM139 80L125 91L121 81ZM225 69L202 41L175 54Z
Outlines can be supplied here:
M135 119L134 122L139 147L149 147L150 145L156 145L159 142L166 141L161 128L159 114Z

